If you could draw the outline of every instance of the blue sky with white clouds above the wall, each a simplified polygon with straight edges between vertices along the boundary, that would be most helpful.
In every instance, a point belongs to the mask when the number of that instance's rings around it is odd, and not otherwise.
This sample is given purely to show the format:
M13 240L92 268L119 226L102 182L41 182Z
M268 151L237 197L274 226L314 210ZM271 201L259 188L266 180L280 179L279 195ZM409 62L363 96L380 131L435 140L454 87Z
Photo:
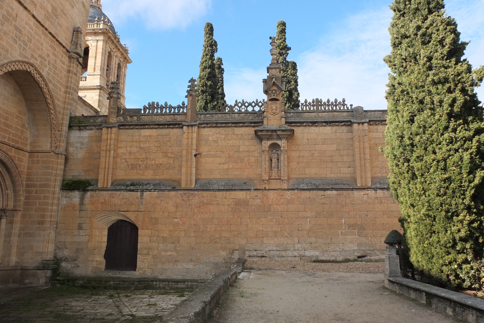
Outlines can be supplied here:
M386 109L391 0L102 0L103 11L127 44L126 106L148 101L180 104L197 78L203 27L210 21L225 68L228 103L262 99L269 36L287 23L288 59L299 69L301 100L315 97ZM484 0L446 0L466 57L484 65ZM484 86L477 89L484 101Z

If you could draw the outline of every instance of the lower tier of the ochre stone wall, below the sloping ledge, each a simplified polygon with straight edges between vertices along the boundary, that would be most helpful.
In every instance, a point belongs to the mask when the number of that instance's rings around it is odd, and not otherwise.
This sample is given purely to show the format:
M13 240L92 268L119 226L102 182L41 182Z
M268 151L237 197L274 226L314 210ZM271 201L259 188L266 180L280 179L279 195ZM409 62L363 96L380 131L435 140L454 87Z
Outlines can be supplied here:
M102 275L107 226L126 215L139 228L137 272L207 278L246 257L384 256L398 227L388 190L63 192L57 257L65 274Z

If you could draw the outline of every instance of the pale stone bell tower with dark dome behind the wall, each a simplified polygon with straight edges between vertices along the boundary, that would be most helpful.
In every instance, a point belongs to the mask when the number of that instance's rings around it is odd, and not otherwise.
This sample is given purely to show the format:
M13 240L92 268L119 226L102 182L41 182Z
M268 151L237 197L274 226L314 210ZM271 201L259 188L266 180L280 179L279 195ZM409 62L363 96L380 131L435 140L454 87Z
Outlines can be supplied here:
M91 0L79 96L100 114L107 114L109 86L117 81L121 97L119 105L124 108L126 70L130 63L129 50L121 44L111 20L102 11L101 0Z

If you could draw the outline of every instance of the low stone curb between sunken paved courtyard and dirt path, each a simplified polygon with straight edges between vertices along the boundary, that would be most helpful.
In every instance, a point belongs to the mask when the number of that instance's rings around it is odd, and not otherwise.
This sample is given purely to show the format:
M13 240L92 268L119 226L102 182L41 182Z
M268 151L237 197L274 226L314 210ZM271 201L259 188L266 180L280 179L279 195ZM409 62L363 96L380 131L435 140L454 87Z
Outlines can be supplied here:
M245 260L245 259L244 259ZM237 278L237 273L242 272L243 262L238 263L236 268L226 270L215 276L187 299L166 313L164 323L204 323L210 311L215 307L222 294Z

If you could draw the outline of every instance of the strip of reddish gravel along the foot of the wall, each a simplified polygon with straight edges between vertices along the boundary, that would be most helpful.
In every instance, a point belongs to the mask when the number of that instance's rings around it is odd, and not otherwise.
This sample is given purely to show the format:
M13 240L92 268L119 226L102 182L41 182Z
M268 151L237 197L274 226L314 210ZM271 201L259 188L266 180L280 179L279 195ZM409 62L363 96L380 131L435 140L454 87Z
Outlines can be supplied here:
M244 268L258 270L283 270L314 273L362 273L382 274L384 262L342 262L321 263L301 259L248 259Z

